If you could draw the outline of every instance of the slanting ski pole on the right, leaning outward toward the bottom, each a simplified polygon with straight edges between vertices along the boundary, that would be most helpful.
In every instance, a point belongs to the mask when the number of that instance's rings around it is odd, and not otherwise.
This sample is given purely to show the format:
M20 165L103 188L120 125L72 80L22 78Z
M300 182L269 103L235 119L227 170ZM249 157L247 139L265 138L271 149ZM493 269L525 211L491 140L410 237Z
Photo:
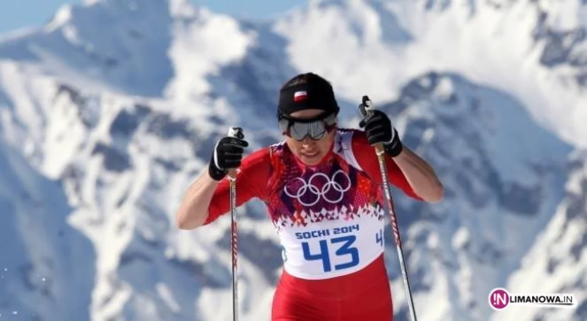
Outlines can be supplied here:
M373 105L372 101L369 100L369 97L367 97L367 95L364 95L363 103L359 105L359 111L361 112L361 115L364 118L373 110L375 110L375 106ZM385 192L386 198L385 208L387 209L387 213L389 213L392 231L396 239L397 256L399 257L400 268L402 269L404 288L406 289L407 304L411 316L410 319L411 321L416 321L416 309L414 309L414 301L411 298L410 282L407 278L406 263L404 262L404 255L402 250L402 239L400 238L400 231L397 227L397 217L395 211L393 210L392 194L390 192L389 181L387 180L387 167L385 166L385 150L383 148L383 144L375 144L375 151L377 153L377 160L379 161L379 169L383 180L383 190Z

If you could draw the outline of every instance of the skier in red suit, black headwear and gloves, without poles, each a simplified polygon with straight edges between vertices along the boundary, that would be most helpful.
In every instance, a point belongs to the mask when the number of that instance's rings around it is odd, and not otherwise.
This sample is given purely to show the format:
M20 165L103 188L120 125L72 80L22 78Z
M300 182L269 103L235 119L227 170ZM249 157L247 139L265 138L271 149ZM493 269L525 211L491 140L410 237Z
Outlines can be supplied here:
M443 197L434 170L402 144L384 112L363 118L364 131L338 128L338 112L327 80L313 73L295 76L279 92L284 141L243 158L247 141L221 138L208 170L188 188L177 211L183 230L230 211L225 177L227 169L238 168L237 206L262 200L281 240L284 269L272 320L393 320L374 144L384 144L392 185L423 202Z

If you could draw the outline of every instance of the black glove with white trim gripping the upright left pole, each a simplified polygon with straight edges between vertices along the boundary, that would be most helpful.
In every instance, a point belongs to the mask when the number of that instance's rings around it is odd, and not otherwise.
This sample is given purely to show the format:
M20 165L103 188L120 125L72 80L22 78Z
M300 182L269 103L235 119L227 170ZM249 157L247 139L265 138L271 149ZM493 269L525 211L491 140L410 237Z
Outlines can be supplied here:
M244 148L248 146L249 143L242 138L222 137L214 147L210 165L208 165L210 177L214 180L221 180L228 174L228 169L241 166Z

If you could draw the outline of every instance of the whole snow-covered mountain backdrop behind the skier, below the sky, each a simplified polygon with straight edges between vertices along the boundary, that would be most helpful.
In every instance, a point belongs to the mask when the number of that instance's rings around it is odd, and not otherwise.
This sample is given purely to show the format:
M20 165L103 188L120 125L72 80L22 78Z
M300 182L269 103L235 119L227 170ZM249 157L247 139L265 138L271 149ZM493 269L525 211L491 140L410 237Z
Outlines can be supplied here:
M311 1L262 22L63 6L0 37L0 316L230 319L230 218L178 231L174 211L228 126L250 150L279 139L278 88L311 70L345 125L369 94L443 180L438 204L396 193L420 319L585 320L586 28L579 0ZM239 210L242 319L268 320L276 233L260 202ZM579 304L494 313L498 286Z

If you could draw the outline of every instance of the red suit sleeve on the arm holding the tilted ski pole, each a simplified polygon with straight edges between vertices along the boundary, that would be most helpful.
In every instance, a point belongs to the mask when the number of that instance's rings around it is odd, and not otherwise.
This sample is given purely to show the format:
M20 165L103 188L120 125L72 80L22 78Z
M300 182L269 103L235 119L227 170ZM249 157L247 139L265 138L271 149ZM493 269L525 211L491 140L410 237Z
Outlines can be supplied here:
M383 185L381 179L381 170L379 169L379 161L377 160L377 153L375 148L367 141L367 136L363 131L355 131L353 134L352 141L353 154L355 155L356 161L359 163L361 168L371 177L371 179L377 185ZM385 164L387 167L387 180L398 187L407 196L410 196L416 200L423 200L420 196L414 192L414 189L410 186L410 183L406 179L406 175L397 166L397 163L390 156L385 156Z

